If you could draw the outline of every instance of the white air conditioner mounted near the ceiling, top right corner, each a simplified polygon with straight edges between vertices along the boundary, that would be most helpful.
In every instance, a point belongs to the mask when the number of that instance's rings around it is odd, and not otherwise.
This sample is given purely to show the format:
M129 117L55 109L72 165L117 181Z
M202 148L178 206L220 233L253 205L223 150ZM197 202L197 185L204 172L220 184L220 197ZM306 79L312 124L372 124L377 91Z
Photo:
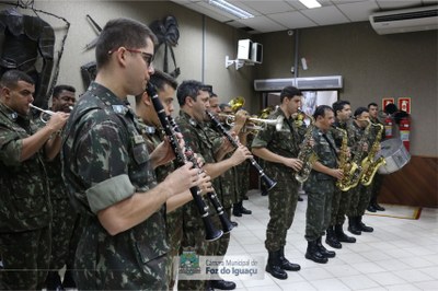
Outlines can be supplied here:
M438 30L438 5L378 12L369 21L378 34Z

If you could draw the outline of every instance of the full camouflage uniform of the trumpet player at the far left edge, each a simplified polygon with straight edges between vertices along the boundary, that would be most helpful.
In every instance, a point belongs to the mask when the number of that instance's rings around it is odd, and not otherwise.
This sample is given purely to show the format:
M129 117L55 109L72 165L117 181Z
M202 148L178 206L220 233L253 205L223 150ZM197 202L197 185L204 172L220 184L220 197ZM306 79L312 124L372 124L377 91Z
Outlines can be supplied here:
M20 162L21 140L36 130L28 117L0 103L0 289L41 289L49 267L51 205L43 151Z

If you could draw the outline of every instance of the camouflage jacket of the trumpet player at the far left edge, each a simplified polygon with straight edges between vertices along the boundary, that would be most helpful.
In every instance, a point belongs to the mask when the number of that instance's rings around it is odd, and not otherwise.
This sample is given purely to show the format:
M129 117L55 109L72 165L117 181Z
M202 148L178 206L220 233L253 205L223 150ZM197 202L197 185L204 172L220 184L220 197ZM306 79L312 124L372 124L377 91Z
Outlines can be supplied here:
M49 225L51 206L43 150L20 162L22 139L37 127L0 103L0 232Z

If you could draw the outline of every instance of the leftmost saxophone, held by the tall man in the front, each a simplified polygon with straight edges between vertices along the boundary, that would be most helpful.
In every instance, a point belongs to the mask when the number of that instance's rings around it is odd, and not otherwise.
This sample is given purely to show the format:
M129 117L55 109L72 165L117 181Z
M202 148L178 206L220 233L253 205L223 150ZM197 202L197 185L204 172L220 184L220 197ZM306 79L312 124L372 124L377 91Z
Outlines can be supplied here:
M310 139L312 138L312 131L314 127L314 118L309 116L302 112L299 112L300 115L306 115L310 119L310 125L306 130L304 140L301 143L301 149L298 154L298 160L302 162L302 167L295 174L295 178L299 183L304 183L312 171L312 166L314 162L318 160L316 153L313 151L313 146L310 144Z

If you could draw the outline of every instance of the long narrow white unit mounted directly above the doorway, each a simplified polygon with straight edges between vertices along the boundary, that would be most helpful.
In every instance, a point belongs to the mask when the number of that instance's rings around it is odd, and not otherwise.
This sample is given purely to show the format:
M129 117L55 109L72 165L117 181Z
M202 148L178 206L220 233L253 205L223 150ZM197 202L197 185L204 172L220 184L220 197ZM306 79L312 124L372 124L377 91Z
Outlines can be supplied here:
M308 77L291 79L254 80L255 91L281 91L285 86L296 86L300 90L342 89L342 75Z

